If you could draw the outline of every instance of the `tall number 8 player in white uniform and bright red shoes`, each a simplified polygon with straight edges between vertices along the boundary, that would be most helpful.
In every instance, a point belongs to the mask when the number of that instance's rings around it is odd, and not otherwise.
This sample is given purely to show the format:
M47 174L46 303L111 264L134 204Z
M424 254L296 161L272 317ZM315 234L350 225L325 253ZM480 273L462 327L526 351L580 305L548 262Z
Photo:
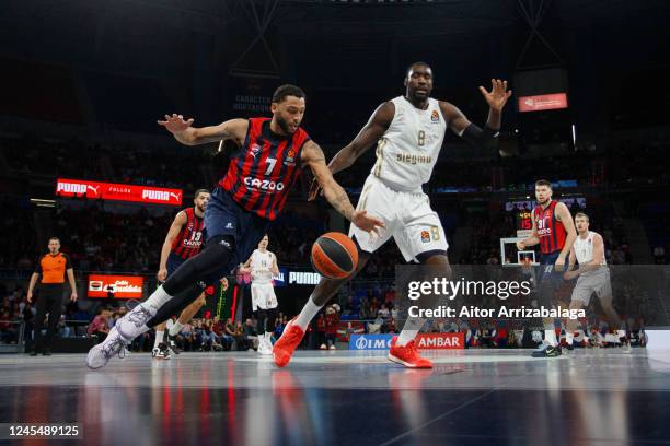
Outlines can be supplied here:
M355 227L349 230L349 236L359 247L356 272L363 269L372 253L393 237L406 261L437 267L450 275L444 231L421 186L430 179L448 128L474 146L497 148L503 107L511 91L507 91L507 81L500 80L492 80L489 92L480 86L490 107L488 121L481 129L454 105L430 97L432 70L427 63L413 63L406 71L404 85L405 95L380 105L328 167L333 174L343 171L377 143L377 162L363 185L357 209L381 219L385 228L373 237ZM313 187L312 199L317 191L317 187ZM275 343L273 353L278 366L289 362L310 320L349 279L321 279L300 315L287 325ZM391 342L391 361L412 368L432 367L430 361L418 354L414 343L424 322L425 319L407 319L400 337Z

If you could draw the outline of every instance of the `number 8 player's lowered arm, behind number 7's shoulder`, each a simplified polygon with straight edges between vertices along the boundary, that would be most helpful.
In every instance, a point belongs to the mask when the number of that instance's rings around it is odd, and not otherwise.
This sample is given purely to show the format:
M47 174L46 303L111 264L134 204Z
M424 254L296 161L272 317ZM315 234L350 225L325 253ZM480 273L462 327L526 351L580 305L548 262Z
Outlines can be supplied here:
M333 156L328 168L333 174L349 167L360 155L370 149L389 129L395 115L395 105L385 102L372 114L370 120L356 138Z

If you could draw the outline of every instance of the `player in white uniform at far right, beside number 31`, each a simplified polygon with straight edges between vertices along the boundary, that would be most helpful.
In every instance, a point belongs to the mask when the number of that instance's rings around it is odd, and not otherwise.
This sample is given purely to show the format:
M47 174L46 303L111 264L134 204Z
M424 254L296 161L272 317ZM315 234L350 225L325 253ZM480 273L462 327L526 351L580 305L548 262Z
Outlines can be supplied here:
M612 306L612 285L610 283L610 270L604 257L604 242L597 232L589 231L589 216L584 212L575 215L577 238L573 244L569 257L568 271L563 274L565 280L577 279L573 290L570 309L581 309L589 305L591 296L596 294L600 306L605 313L610 329L617 330L619 338L624 338L623 343L627 345L625 330L620 330L621 319ZM579 268L575 268L575 260ZM573 337L577 329L577 319L568 319L565 327L565 341L568 349L573 349Z

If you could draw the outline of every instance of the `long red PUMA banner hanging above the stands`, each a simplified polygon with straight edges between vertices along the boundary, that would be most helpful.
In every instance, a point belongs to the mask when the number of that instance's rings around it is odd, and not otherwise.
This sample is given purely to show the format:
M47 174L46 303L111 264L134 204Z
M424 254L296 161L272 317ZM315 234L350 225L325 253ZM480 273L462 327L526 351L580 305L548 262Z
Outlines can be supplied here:
M83 197L90 200L136 201L141 203L182 206L182 189L164 187L120 185L90 181L88 179L56 180L56 197Z

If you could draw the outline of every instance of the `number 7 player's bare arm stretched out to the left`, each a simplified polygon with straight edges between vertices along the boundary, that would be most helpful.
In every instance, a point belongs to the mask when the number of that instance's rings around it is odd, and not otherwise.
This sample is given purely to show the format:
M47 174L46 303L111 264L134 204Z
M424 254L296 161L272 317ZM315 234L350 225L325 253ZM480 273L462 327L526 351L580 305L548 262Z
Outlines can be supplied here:
M235 140L241 145L249 127L246 119L239 118L227 120L218 126L200 128L190 127L193 121L193 118L185 120L182 115L172 114L172 116L165 115L165 120L159 120L158 124L165 127L174 139L184 145L206 144L228 139Z

